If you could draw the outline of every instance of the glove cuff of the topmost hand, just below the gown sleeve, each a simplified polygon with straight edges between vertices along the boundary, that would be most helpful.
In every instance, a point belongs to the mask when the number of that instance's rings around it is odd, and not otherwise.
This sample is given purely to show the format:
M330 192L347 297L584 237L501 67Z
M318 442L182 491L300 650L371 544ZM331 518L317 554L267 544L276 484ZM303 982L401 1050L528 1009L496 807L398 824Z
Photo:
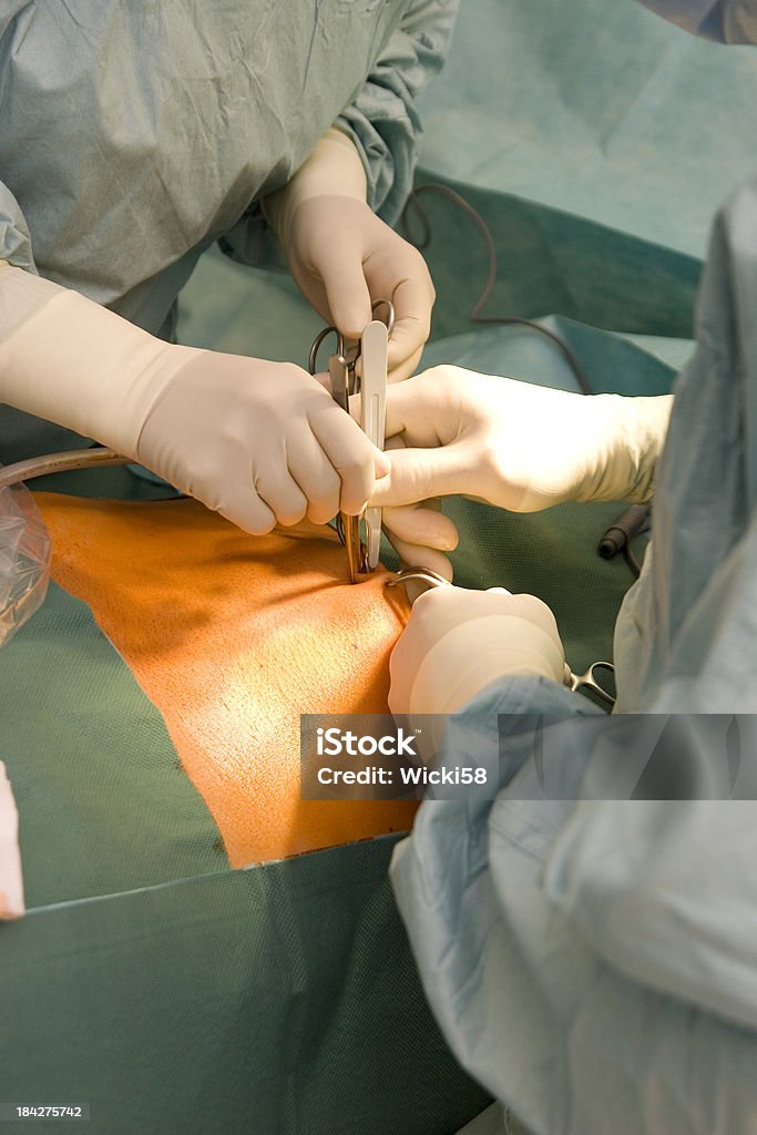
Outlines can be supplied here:
M352 138L331 126L289 182L263 201L266 219L287 247L292 220L303 201L318 196L368 199L368 179Z

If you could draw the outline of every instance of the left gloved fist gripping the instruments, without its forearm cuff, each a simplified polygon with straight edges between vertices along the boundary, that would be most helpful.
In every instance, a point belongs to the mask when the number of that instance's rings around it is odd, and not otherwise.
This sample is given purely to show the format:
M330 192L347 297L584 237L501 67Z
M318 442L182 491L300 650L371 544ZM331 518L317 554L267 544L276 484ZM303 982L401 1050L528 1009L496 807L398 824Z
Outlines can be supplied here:
M331 421L334 453L314 436ZM368 469L373 448L355 422L304 370L288 363L205 352L177 371L144 422L138 457L173 485L196 496L247 531L292 524L308 507L337 511L345 477ZM381 460L384 457L381 456Z

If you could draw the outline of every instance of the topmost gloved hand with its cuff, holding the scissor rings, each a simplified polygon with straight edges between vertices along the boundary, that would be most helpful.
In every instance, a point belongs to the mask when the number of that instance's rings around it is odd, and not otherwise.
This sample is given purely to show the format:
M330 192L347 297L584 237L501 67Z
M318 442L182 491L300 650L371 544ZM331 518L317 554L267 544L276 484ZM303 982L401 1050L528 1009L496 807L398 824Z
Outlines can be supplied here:
M344 336L360 336L372 318L372 301L392 301L392 382L418 364L435 292L421 254L372 212L365 196L358 151L346 134L329 129L292 180L266 199L264 209L297 287Z

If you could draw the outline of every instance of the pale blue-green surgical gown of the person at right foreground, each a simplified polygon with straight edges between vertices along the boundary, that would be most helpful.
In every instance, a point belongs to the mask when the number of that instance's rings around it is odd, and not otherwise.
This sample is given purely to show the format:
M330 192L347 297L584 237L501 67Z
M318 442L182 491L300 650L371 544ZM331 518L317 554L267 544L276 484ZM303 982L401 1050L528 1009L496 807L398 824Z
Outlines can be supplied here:
M757 712L757 180L715 220L697 340L661 461L654 554L615 639L620 709L722 715L683 728L692 798L577 801L592 750L567 722L586 722L588 703L502 680L452 718L440 757L497 754L495 798L424 802L393 860L449 1044L535 1135L757 1130L751 718L749 798L693 798L722 756L701 737ZM545 714L563 721L552 755L572 799L545 798L535 774Z

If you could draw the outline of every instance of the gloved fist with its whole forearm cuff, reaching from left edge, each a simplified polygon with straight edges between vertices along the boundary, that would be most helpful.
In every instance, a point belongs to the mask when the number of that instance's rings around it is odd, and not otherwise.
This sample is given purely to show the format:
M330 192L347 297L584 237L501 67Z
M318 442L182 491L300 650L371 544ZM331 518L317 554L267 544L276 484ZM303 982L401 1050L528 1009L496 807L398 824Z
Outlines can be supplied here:
M0 401L93 437L253 533L358 513L387 459L305 371L154 338L0 268Z

